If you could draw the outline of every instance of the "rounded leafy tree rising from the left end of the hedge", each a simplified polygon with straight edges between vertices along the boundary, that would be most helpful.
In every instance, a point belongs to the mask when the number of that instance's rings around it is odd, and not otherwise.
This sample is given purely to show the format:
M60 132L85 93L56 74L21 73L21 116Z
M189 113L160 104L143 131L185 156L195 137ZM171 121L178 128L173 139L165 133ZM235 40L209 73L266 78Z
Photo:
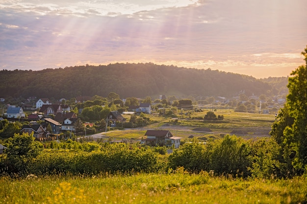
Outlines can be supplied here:
M7 148L8 157L36 158L43 151L41 143L35 141L33 133L30 135L28 133L15 134L14 137L8 139Z

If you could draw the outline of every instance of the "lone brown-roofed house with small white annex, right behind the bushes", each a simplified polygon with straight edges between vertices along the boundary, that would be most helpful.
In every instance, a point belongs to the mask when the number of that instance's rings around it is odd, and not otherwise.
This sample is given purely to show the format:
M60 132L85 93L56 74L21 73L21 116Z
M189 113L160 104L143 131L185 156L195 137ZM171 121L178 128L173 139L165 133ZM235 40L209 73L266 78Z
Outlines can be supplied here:
M172 146L174 144L175 148L179 148L180 145L181 137L173 136L169 130L148 130L145 136L147 137L142 141L151 146Z

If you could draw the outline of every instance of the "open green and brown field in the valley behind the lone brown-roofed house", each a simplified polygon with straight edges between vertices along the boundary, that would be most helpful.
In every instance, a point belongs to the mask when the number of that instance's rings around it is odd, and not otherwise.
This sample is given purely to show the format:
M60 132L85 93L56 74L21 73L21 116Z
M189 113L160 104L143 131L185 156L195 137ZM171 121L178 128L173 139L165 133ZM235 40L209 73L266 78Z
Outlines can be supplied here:
M199 117L204 117L208 111L211 110L204 110L204 112L200 113L195 112L178 118L146 115L156 123L141 128L111 131L106 136L111 139L142 139L147 130L159 129L170 130L174 136L179 136L183 139L188 139L191 135L196 138L209 138L226 134L250 139L269 136L271 126L275 120L274 114L237 113L231 109L218 109L214 112L216 115L223 115L223 120L204 121L203 119L198 119ZM129 116L124 115L124 117L129 119ZM98 134L98 136L105 138L104 133Z

